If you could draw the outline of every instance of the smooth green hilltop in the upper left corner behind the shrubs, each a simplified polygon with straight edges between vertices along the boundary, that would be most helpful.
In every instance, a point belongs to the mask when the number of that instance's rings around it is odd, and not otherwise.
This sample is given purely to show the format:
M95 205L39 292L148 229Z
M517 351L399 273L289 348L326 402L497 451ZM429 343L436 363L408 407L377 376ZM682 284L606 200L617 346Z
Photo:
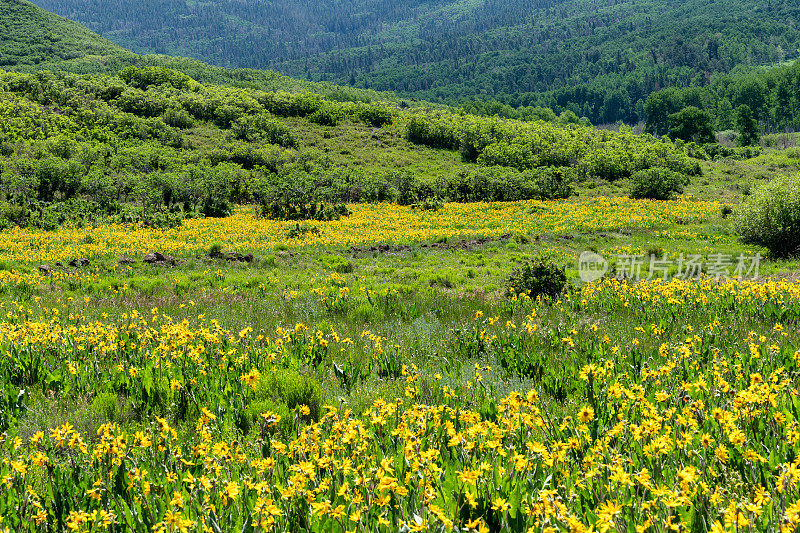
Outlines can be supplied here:
M131 55L77 22L26 0L0 0L0 67L43 67L61 62L98 64Z

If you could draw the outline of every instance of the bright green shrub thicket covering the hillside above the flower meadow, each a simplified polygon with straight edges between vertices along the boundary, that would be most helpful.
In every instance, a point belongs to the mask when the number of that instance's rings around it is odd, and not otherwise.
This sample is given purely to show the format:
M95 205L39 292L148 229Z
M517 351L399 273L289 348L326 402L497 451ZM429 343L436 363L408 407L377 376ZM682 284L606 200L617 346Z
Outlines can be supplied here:
M569 197L575 180L651 167L699 172L686 148L629 131L202 85L156 66L117 76L2 73L0 91L3 225L112 216L164 226L247 202L265 216L319 219L346 214L346 202L546 200ZM381 139L385 129L397 132L393 142L405 143L404 134L459 150L465 163L437 177L398 168L379 149L365 168L348 155L352 143L338 145L334 158L309 138Z

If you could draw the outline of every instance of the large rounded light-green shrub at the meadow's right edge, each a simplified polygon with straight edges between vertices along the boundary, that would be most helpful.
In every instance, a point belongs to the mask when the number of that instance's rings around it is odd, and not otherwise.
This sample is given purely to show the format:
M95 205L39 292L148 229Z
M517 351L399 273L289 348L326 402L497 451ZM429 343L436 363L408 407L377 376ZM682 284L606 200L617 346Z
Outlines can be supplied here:
M753 191L735 215L734 227L748 244L774 257L800 255L800 180L783 176Z

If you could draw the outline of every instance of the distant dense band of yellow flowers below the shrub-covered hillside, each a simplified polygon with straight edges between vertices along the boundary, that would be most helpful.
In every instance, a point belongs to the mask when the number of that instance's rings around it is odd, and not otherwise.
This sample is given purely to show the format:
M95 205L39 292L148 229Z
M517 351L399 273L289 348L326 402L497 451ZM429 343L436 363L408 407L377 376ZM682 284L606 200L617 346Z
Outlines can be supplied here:
M3 232L0 260L25 263L66 263L78 257L141 258L159 250L178 257L207 252L209 243L222 242L242 253L270 253L290 247L421 242L441 237L474 238L625 228L660 228L700 222L716 215L717 202L678 200L656 202L627 198L578 201L447 204L436 212L394 204L349 206L353 214L338 221L315 222L320 232L287 239L292 222L258 219L252 208L240 208L224 219L187 220L175 229L99 225L64 227L46 232L14 229ZM91 238L89 238L91 237Z

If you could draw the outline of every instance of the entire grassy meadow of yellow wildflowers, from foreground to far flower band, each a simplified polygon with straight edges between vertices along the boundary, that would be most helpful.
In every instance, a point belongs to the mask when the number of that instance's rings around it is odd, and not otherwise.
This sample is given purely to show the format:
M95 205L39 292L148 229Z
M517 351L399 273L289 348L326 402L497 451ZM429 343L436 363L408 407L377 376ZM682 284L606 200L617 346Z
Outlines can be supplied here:
M542 250L757 252L720 208L3 232L0 527L794 531L800 283L502 287ZM213 242L256 260L209 259ZM178 261L117 264L154 250Z

